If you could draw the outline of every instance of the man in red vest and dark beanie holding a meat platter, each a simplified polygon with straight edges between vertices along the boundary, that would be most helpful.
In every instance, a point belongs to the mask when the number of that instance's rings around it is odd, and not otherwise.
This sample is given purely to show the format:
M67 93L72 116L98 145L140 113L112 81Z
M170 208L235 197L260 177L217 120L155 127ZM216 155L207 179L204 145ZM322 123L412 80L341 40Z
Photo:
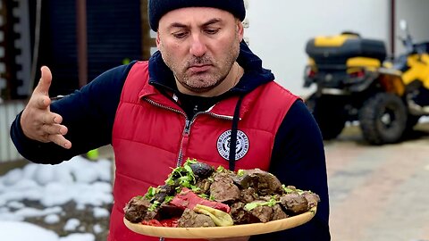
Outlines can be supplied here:
M305 104L276 84L242 41L242 0L152 0L158 52L106 71L52 102L42 77L11 136L32 162L59 163L101 145L115 154L109 240L158 240L132 233L123 207L171 168L196 158L230 170L269 170L320 195L315 218L250 240L330 240L324 146ZM248 238L244 238L246 240Z

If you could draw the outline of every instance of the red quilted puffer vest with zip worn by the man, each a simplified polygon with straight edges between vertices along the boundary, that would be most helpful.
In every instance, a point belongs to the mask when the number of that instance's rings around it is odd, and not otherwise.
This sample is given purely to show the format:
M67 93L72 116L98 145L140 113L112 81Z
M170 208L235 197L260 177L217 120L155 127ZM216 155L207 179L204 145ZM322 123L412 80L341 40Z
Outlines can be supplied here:
M148 79L147 62L136 62L116 111L111 241L159 240L127 229L123 207L133 196L146 194L148 187L164 185L172 168L187 158L228 168L231 123L239 97L224 99L188 120L174 98L149 85ZM242 98L235 170L268 170L277 129L297 98L274 81Z

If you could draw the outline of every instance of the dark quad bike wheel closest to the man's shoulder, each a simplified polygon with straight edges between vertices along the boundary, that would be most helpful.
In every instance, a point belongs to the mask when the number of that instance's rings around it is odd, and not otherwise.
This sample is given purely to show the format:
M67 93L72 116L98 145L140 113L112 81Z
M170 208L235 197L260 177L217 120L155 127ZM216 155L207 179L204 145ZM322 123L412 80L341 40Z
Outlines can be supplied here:
M343 103L337 96L316 97L313 94L307 99L306 104L315 117L324 140L330 140L340 135L346 124L346 117Z

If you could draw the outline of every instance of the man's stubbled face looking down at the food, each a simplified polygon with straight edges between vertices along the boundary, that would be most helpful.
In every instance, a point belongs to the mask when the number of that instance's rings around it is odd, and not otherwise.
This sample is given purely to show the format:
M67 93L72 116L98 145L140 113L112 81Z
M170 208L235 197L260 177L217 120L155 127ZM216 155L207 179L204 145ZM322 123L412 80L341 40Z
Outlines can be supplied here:
M230 12L189 7L159 21L156 46L179 85L201 94L218 87L240 52L243 27Z

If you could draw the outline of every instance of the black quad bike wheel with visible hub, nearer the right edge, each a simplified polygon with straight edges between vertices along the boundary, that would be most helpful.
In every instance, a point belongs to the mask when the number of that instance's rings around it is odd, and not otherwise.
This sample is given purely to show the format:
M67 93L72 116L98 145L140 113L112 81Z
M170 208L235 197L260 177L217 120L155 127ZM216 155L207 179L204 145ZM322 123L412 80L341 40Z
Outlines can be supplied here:
M407 108L399 96L378 93L359 112L360 129L366 141L383 145L400 141L407 127Z

